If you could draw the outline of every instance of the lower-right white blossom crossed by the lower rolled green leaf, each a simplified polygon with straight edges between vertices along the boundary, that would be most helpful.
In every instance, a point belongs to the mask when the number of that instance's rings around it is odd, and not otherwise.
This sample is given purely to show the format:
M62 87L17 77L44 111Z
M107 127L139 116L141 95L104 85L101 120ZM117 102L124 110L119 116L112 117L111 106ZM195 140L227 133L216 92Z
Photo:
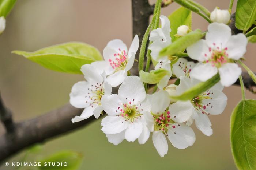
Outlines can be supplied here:
M182 94L188 88L199 83L196 79L180 77L180 84L176 88L177 95ZM190 126L195 120L196 127L203 134L212 135L211 122L208 115L218 115L223 112L227 104L227 96L222 92L223 86L220 83L204 93L195 96L189 101L177 101L173 103L169 110L170 116L175 122L186 122Z

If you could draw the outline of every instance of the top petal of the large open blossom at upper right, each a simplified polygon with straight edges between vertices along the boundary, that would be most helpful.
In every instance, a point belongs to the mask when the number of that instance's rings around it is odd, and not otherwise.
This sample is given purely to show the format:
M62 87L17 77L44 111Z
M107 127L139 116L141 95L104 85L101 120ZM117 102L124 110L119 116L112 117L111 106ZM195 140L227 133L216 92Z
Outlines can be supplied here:
M208 47L212 49L224 49L227 41L231 37L231 29L226 24L211 23L205 39Z

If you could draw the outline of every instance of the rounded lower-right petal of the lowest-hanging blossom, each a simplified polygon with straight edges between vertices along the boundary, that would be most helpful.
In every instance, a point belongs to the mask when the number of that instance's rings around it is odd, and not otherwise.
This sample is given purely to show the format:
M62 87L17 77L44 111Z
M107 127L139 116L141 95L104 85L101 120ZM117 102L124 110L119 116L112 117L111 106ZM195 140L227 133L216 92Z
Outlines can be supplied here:
M167 137L174 147L185 149L194 144L196 135L191 127L183 123L174 123L171 124L170 129L167 132Z

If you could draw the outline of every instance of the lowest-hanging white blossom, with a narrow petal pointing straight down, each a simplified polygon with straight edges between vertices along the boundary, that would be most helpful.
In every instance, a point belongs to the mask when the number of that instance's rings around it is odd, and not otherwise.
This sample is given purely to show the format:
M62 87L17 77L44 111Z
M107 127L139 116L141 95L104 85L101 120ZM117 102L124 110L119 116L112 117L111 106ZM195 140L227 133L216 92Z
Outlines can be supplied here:
M173 112L170 108L169 94L166 91L159 91L148 95L151 103L150 112L144 114L147 126L153 132L153 144L159 155L164 157L168 151L166 137L172 145L178 149L185 149L195 142L195 133L191 127L184 123L175 123L170 116Z

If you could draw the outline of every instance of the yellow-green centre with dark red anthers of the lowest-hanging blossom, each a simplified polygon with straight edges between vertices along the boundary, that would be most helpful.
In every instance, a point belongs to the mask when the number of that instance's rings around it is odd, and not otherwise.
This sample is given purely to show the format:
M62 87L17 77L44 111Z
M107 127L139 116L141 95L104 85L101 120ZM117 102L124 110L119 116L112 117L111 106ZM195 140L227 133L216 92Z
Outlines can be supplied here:
M167 135L169 124L174 123L173 120L170 119L170 112L166 109L161 115L159 113L153 114L153 118L155 120L154 131L162 130L165 135ZM175 128L175 125L172 126Z

